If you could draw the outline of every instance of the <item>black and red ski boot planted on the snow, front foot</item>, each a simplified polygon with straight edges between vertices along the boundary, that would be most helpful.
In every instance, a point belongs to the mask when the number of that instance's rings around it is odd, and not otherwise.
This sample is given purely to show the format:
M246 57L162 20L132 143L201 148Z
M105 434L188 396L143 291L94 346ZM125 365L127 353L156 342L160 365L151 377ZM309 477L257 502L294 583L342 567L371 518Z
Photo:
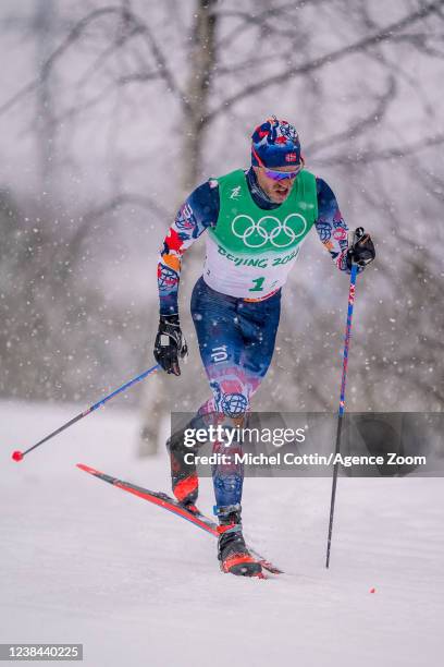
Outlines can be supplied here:
M239 577L261 577L262 567L252 558L242 534L240 505L218 508L218 558L222 572Z

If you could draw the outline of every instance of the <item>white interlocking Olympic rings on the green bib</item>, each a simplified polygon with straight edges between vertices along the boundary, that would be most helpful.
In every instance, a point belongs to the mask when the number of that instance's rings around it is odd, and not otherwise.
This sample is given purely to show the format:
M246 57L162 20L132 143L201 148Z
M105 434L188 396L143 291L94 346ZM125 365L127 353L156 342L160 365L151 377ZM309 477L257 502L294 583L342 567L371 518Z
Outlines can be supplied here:
M262 216L254 220L239 214L232 221L232 232L247 247L262 247L270 243L274 247L288 247L307 231L307 220L300 214L289 214L285 220L274 216Z

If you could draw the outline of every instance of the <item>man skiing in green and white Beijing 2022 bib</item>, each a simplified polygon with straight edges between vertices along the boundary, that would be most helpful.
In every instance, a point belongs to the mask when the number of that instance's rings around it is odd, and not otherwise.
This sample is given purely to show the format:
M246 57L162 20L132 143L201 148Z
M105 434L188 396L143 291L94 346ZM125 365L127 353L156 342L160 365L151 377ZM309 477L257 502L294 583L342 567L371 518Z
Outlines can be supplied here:
M305 169L295 128L274 116L251 136L249 170L210 179L181 207L158 266L155 356L166 373L181 374L178 360L187 352L177 308L182 255L207 232L192 315L212 397L192 420L194 427L214 420L243 424L274 351L282 288L312 227L341 271L349 274L351 263L363 270L374 259L373 243L363 230L348 243L348 228L332 190ZM184 429L171 436L168 448L173 493L196 511L198 478L196 468L184 462L189 452ZM213 486L221 568L257 575L261 566L242 533L242 469L213 466Z

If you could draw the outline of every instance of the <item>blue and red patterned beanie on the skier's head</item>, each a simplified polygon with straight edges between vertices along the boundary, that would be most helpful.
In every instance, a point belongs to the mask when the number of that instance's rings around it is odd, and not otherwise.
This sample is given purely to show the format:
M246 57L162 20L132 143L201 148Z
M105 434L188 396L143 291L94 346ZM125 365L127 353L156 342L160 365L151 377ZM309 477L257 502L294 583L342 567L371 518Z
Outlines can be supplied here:
M300 162L300 144L294 125L275 116L258 125L251 135L251 165L259 167L292 167Z

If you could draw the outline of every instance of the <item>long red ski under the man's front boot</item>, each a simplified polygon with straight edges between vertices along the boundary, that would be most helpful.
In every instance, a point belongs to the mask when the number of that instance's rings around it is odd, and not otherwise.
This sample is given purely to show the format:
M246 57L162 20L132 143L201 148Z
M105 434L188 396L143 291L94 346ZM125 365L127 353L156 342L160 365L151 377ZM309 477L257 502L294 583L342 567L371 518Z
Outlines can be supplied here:
M148 500L148 502L152 502L152 505L157 505L158 507L163 507L163 509L173 512L177 517L182 517L182 519L186 519L197 527L202 529L210 535L214 537L219 537L218 533L218 524L212 521L209 517L206 517L201 512L190 512L188 511L181 502L172 498L168 494L162 492L152 492L148 488L144 488L143 486L137 486L136 484L132 484L131 482L124 482L119 477L112 477L111 475L107 475L106 473L96 470L95 468L90 468L90 465L85 465L85 463L77 463L77 468L83 470L84 472L89 473L90 475L102 480L103 482L108 482L112 484L112 486L116 486L122 490L127 492L128 494L133 494L143 500ZM248 547L251 556L257 559L258 562L271 572L272 574L283 574L283 570L280 570L276 566L274 566L270 560L267 560L261 556L256 549ZM266 579L264 575L260 577L260 579Z

